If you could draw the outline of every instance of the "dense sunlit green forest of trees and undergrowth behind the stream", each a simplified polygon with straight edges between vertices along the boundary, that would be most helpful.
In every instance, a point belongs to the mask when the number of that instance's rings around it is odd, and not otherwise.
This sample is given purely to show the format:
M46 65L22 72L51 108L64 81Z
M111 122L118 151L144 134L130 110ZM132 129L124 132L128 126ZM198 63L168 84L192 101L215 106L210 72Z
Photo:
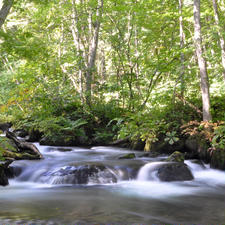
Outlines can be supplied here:
M191 124L224 149L225 2L198 3L15 1L0 30L1 120L53 143L129 137L146 150Z

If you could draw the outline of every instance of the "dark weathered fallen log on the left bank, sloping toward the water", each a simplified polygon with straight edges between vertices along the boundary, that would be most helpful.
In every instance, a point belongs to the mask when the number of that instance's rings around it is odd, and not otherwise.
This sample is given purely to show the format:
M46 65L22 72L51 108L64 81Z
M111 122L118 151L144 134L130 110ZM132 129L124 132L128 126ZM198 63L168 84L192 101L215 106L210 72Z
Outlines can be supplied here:
M31 155L35 156L34 159L43 158L42 154L39 152L38 148L34 144L19 140L13 132L10 132L9 130L7 130L6 137L13 140L13 142L18 148L18 151L28 152Z

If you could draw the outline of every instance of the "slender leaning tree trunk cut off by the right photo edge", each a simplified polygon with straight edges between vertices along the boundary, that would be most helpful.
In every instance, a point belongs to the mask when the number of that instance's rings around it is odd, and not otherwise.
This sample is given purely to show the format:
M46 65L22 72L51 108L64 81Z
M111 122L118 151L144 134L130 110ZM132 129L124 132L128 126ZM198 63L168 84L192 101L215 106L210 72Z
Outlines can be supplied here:
M220 48L221 48L221 58L222 58L222 66L223 66L223 78L225 82L225 41L222 35L222 30L220 26L220 18L219 18L219 11L217 6L217 0L212 0L213 9L214 9L214 18L216 25L218 26L218 35L220 39Z

